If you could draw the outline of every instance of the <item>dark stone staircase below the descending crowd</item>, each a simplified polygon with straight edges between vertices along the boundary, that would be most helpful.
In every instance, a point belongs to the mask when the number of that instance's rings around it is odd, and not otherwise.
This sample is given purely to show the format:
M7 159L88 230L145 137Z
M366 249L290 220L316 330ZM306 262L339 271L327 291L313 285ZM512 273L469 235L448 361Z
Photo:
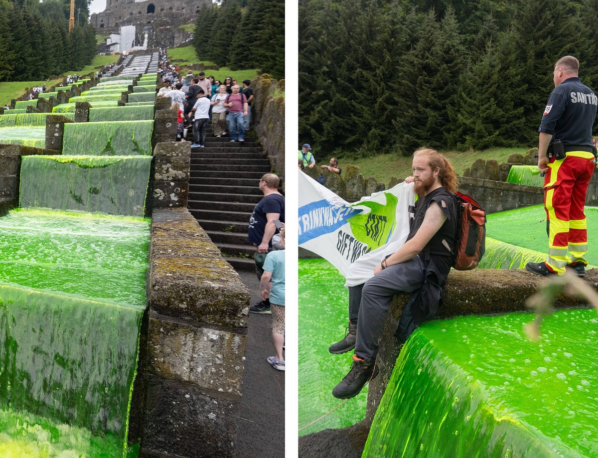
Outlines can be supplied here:
M193 141L191 130L185 139ZM215 138L210 126L205 148L191 149L189 210L236 270L255 270L247 228L263 197L260 178L268 172L270 162L255 138L231 143L228 136Z

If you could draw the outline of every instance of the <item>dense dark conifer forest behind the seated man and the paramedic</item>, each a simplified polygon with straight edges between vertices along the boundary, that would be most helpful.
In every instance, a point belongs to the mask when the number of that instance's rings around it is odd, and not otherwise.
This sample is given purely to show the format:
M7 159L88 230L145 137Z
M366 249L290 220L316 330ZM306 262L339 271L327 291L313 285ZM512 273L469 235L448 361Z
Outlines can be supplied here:
M597 30L597 0L300 0L298 143L533 144L556 60L598 90Z

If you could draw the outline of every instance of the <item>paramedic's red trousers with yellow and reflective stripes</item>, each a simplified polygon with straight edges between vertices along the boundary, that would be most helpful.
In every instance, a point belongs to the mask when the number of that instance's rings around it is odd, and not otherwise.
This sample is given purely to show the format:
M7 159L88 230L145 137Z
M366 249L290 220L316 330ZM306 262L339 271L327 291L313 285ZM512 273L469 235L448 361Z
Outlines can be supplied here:
M548 221L546 265L558 274L568 262L583 262L588 252L585 193L596 164L586 151L569 151L565 159L551 158L544 178L544 208ZM569 251L570 257L567 255Z

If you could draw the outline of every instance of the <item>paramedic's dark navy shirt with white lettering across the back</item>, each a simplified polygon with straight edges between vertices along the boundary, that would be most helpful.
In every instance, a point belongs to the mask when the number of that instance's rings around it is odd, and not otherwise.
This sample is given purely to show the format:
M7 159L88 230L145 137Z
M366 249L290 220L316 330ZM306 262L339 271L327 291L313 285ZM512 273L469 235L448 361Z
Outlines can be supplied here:
M592 145L598 97L578 77L567 78L548 97L538 132L554 135L565 145Z

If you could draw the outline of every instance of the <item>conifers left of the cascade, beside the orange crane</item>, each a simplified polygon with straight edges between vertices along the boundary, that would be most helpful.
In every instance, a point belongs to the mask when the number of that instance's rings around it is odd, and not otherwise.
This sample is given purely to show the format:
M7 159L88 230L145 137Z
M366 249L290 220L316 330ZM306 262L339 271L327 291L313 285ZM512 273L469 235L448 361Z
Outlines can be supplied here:
M0 0L0 81L45 80L91 62L96 33L87 25L87 1L75 1L80 26L69 33L70 4Z

